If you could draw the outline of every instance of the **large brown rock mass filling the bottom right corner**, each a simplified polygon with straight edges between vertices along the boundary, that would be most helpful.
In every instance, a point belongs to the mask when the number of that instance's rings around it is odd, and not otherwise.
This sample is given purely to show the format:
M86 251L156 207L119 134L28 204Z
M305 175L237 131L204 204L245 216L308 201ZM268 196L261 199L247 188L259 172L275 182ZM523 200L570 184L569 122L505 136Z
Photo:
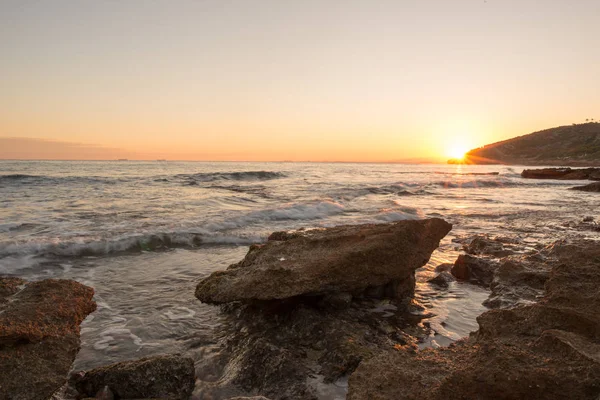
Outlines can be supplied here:
M349 379L348 400L600 396L600 243L557 246L536 304L491 310L447 348L385 352Z

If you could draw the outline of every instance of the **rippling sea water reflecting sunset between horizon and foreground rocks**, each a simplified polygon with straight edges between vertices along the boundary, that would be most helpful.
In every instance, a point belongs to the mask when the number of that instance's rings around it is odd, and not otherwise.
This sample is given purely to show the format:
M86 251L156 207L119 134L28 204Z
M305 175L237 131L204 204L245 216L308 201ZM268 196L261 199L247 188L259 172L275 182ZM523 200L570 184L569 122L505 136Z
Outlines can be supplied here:
M269 233L442 217L454 225L418 271L415 301L447 345L477 329L488 292L428 284L457 239L516 238L533 249L598 214L578 183L525 180L522 168L400 164L0 161L0 275L69 278L94 287L75 369L152 354L193 357L201 380L222 317L197 282L242 259ZM330 388L323 393L330 393ZM343 392L343 389L342 391ZM338 397L335 397L338 396ZM324 394L323 398L339 398Z

